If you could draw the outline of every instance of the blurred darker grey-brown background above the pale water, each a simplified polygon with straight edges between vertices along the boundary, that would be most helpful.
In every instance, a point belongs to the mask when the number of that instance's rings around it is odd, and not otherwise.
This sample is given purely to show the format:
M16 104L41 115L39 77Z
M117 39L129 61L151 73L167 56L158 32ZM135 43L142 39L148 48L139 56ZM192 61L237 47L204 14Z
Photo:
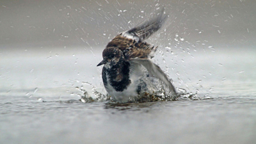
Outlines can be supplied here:
M254 47L255 6L253 0L1 0L0 48L106 45L159 7L169 15L163 45L179 34L190 44Z

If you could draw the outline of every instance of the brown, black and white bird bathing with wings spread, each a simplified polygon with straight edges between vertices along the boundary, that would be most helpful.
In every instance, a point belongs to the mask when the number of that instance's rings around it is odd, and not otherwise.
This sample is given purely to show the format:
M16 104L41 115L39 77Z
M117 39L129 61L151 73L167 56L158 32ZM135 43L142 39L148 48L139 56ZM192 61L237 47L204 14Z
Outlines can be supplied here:
M172 82L159 66L152 62L157 47L145 42L158 31L166 21L164 8L152 19L147 19L113 38L102 52L103 60L97 65L102 68L104 87L113 100L119 103L131 102L140 92L147 90L147 83L142 79L143 68L156 77L170 90L172 100L177 92Z

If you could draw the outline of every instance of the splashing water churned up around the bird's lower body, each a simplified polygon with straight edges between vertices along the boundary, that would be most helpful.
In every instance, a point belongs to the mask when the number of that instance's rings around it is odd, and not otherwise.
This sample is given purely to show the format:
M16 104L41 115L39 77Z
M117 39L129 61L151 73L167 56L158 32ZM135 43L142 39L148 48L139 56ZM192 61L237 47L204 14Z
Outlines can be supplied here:
M147 83L147 88L141 92L138 97L134 99L130 99L129 102L134 103L140 103L140 102L156 102L156 101L172 101L173 95L170 93L170 90L166 87L166 85L156 79L155 77L149 76L148 74L145 74L143 76L143 79L146 80L145 83ZM171 80L172 81L172 80ZM81 99L79 99L81 102L113 102L113 99L111 99L111 95L104 95L103 93L100 93L96 90L95 86L93 84L90 84L88 82L85 82L84 84L88 84L92 88L92 93L94 98L89 95L87 90L84 90L83 86L76 87L77 90L83 92L83 95L79 95ZM177 98L175 100L203 100L203 99L212 99L208 96L199 96L197 93L187 92L183 88L177 88Z

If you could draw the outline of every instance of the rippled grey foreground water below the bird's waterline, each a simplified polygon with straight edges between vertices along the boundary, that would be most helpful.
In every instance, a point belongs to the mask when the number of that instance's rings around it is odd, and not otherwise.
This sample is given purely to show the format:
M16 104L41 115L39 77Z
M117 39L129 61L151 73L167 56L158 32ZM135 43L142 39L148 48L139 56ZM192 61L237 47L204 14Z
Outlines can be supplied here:
M116 104L1 97L1 143L254 143L256 97Z

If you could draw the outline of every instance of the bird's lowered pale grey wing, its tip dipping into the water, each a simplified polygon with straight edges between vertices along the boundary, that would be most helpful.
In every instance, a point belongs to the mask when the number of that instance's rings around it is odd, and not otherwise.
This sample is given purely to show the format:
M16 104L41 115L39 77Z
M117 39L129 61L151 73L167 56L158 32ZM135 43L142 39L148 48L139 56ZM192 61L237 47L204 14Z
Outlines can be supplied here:
M172 93L172 100L175 100L177 98L177 93L172 82L169 81L168 77L166 76L166 74L164 74L163 70L161 70L161 68L159 68L155 63L145 58L134 58L131 61L134 63L140 63L145 68L147 68L150 74L157 77L157 79L163 81L166 84L166 86L168 86L170 92Z

